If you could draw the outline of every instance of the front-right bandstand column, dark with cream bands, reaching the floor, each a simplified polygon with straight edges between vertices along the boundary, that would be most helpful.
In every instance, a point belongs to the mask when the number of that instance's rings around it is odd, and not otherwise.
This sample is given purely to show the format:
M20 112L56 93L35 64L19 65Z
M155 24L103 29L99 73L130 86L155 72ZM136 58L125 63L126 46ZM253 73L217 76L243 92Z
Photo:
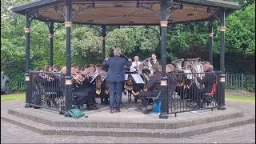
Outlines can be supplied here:
M167 78L166 78L166 0L161 1L161 63L162 63L162 78L161 78L161 113L159 118L168 118L168 99L167 99Z

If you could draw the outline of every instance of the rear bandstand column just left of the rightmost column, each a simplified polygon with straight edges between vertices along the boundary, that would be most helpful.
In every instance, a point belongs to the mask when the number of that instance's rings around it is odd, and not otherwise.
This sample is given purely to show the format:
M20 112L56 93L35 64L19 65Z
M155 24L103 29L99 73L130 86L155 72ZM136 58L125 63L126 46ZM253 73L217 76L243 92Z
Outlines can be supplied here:
M213 22L209 22L209 33L208 33L208 50L209 50L209 62L211 65L213 65L213 43L214 43L214 27Z

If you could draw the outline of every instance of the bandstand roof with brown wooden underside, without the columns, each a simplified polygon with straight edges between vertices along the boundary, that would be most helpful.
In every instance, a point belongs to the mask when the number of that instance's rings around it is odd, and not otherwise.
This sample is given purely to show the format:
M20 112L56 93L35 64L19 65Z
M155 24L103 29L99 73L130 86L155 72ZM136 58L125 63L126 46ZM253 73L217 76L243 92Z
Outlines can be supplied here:
M168 2L168 1L167 1ZM43 22L65 22L65 0L38 0L11 10L37 14ZM223 0L173 0L167 6L168 22L183 23L214 18L218 10L227 13L240 8L238 2ZM72 22L88 25L159 25L160 0L72 0Z

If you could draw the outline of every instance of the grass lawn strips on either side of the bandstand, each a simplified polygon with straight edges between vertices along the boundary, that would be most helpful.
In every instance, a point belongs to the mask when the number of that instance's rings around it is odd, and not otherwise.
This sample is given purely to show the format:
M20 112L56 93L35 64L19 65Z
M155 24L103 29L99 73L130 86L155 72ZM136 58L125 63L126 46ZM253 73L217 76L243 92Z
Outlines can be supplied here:
M1 101L25 99L25 93L21 94L4 94L1 95ZM226 94L226 101L231 102L255 102L255 96L242 94Z

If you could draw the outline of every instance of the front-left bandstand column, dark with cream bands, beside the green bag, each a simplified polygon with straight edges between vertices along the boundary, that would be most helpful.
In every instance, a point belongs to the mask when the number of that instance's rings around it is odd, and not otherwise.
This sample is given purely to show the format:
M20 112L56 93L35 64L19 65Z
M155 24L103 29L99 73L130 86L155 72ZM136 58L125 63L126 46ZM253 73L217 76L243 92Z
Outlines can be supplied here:
M66 1L66 77L65 77L65 117L69 117L68 110L72 108L71 104L71 2Z

